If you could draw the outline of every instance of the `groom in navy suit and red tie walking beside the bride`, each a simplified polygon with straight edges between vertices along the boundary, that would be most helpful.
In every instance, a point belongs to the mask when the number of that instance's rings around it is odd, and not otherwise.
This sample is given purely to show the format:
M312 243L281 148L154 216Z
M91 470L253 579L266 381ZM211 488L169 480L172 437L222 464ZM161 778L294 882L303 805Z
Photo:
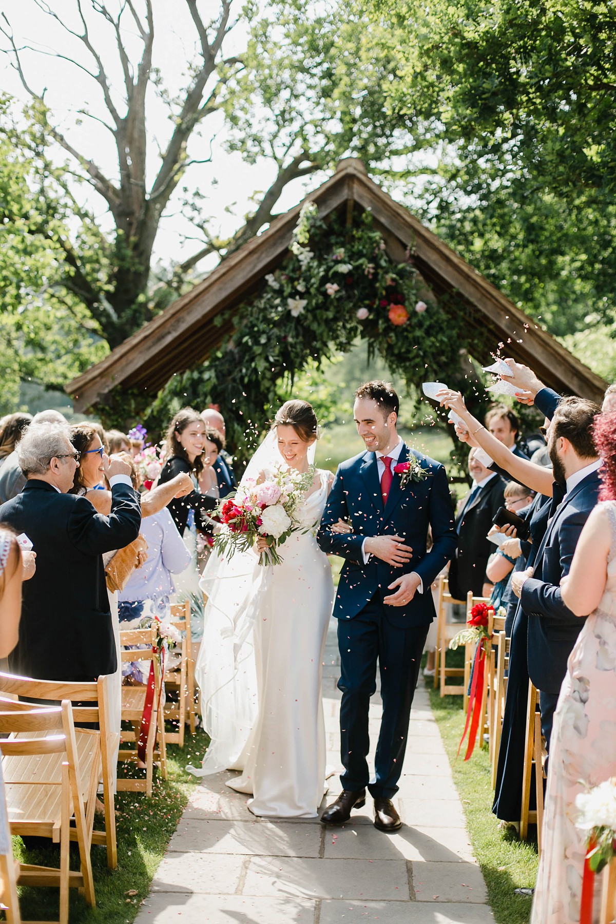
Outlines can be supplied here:
M368 452L339 466L317 536L323 552L345 559L333 608L342 673L344 790L321 821L348 821L351 809L364 805L368 786L375 826L392 832L402 825L391 800L398 791L419 663L435 616L430 585L452 558L457 536L445 469L398 436L400 402L392 385L368 382L355 397L357 432ZM403 473L400 467L408 470ZM338 520L350 531L333 532ZM429 528L432 548L427 553ZM377 659L383 709L376 775L369 783L368 707L376 690Z

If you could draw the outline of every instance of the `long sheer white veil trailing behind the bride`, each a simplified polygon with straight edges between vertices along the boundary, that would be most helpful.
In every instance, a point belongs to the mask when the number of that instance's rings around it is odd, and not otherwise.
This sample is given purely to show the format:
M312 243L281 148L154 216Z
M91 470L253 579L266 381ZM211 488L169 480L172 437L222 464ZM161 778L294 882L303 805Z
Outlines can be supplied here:
M313 444L308 449L310 464L314 455ZM250 459L238 493L281 461L273 430ZM236 552L230 559L212 552L203 571L199 587L208 602L195 679L211 743L200 768L187 766L195 776L243 769L242 752L259 708L252 627L272 577L272 565L259 565L252 551Z

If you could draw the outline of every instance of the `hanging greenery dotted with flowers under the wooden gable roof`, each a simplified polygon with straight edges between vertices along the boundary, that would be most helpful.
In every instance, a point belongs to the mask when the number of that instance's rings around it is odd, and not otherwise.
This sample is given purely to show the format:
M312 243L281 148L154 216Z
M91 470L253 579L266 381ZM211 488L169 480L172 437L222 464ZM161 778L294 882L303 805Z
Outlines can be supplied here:
M218 405L229 444L246 456L296 374L358 337L409 386L443 377L461 383L462 359L471 337L477 343L477 330L455 302L430 296L412 242L404 262L392 261L369 211L351 225L336 214L326 224L308 202L284 262L254 298L219 315L220 324L233 318L235 333L209 362L163 389L146 415L148 429L163 426L183 405Z

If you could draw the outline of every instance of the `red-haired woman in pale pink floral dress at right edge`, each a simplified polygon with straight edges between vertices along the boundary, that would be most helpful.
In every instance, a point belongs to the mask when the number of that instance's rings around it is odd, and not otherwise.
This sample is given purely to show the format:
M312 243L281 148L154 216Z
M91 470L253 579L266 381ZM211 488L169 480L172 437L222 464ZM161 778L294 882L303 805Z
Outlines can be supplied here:
M616 776L616 413L599 415L594 434L603 487L561 582L563 602L587 619L554 715L532 924L578 924L586 832L575 797Z

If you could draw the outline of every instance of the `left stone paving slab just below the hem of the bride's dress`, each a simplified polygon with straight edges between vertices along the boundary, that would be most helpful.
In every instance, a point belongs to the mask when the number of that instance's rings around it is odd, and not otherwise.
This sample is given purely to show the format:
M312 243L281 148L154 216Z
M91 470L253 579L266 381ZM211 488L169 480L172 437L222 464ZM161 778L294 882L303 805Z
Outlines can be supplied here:
M168 849L254 857L319 857L320 824L180 821Z

